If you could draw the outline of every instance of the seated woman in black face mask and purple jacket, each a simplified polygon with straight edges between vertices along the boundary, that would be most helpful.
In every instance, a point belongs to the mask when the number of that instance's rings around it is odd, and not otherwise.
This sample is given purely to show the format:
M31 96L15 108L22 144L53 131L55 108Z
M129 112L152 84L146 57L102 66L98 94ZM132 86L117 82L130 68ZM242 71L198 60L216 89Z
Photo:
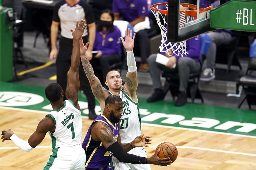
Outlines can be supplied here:
M113 12L106 9L101 12L100 20L96 26L93 51L100 51L94 55L94 58L100 60L103 80L106 80L110 65L121 61L121 33L113 25L113 21Z

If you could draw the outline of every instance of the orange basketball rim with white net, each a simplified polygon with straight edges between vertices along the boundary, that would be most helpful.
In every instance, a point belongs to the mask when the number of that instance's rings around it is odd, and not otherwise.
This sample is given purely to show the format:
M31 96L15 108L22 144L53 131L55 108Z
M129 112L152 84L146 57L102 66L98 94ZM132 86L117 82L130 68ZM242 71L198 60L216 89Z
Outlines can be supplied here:
M197 17L197 6L194 4L180 3L185 9L184 11L180 11L180 29L185 26L190 21L193 21ZM160 6L165 6L165 10L158 9ZM212 9L213 6L209 6L207 8L199 8L199 13L204 11L208 11ZM161 30L162 40L161 45L159 46L160 52L168 52L168 55L172 54L184 56L188 55L186 51L186 40L181 42L168 42L167 41L167 25L166 16L168 16L168 3L159 3L151 5L151 11L156 17L156 21ZM161 21L162 20L162 21Z

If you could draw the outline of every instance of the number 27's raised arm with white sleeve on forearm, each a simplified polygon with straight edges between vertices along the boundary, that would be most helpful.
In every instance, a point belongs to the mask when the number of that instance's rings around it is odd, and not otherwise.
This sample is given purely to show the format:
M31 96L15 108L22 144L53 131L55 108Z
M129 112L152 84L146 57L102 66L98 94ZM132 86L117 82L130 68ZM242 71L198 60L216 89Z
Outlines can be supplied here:
M133 54L133 47L134 47L134 39L135 39L135 33L133 34L132 38L132 30L130 28L125 30L125 41L121 37L121 40L123 42L124 48L127 52L127 66L128 66L128 72L126 74L126 82L124 84L124 90L128 93L128 95L138 103L138 98L136 95L136 90L138 87L138 81L137 81L137 67L136 67L136 61Z

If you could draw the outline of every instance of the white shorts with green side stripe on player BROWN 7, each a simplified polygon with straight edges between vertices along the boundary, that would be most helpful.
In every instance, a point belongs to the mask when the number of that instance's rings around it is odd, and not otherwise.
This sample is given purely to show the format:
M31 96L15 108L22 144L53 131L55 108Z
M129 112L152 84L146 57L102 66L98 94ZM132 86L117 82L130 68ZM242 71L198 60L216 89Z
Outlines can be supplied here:
M52 149L52 154L43 170L76 169L84 170L85 151L81 144Z

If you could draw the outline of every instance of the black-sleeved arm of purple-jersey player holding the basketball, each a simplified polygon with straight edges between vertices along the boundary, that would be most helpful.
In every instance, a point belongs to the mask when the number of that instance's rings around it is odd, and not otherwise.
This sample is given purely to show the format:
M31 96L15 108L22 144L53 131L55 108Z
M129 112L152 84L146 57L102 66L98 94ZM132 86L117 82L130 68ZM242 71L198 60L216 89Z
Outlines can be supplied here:
M150 158L125 153L122 146L113 139L112 130L104 122L96 122L92 125L91 137L93 140L101 141L108 152L115 156L120 162L131 164L155 164L162 166L170 165L172 162L170 158L158 158L157 153L159 151Z

